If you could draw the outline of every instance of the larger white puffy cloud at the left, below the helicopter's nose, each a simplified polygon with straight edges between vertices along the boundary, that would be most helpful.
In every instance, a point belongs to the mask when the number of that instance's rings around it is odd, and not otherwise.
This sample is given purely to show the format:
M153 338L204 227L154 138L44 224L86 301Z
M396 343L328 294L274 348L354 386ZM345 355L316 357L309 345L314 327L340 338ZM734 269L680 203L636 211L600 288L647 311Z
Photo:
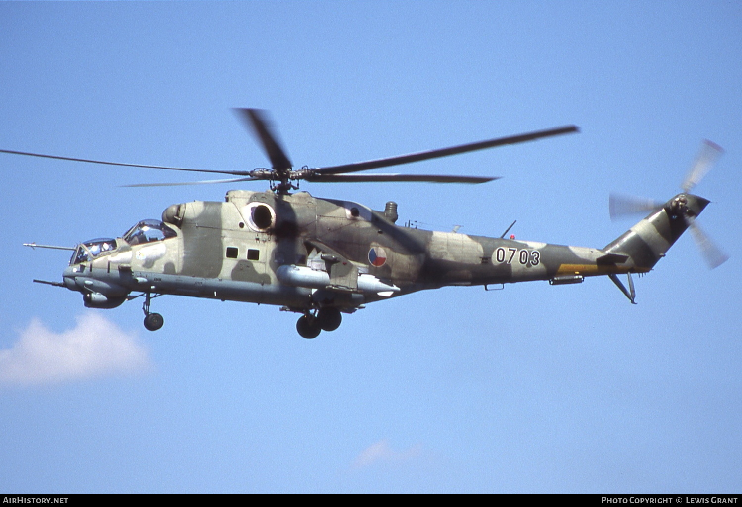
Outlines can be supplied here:
M150 368L136 334L126 334L100 314L77 317L68 331L31 320L12 348L0 350L0 384L42 385Z

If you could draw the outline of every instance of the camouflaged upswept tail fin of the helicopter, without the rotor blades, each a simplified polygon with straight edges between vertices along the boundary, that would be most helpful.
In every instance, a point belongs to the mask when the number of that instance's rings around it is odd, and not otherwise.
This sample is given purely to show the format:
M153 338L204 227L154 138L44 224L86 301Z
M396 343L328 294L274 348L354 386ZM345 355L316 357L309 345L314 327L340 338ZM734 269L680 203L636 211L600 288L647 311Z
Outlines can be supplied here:
M703 197L679 193L606 245L603 251L628 255L634 267L631 271L650 271L708 204L709 200Z

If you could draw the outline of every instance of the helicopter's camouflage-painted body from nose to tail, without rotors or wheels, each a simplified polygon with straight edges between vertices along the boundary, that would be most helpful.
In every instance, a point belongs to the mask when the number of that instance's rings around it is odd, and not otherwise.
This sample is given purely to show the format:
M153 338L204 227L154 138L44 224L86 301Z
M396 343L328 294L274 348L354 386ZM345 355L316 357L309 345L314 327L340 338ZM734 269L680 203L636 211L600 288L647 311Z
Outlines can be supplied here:
M373 211L306 192L230 190L225 202L168 207L162 221L174 237L141 245L118 238L114 250L83 262L73 254L63 277L94 308L148 293L350 313L445 285L646 273L708 203L678 194L605 248L583 248L402 227L396 205Z

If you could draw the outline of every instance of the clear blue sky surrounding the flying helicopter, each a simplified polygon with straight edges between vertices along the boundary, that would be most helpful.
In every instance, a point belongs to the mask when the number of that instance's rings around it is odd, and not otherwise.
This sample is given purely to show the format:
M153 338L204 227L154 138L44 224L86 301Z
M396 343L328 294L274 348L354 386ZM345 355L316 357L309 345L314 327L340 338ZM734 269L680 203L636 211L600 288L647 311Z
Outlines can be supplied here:
M0 2L0 148L194 168L266 159L230 107L272 111L295 165L579 125L420 162L487 185L303 185L499 236L603 247L608 193L695 189L731 258L683 236L630 305L603 278L444 288L305 340L276 307L163 297L83 308L73 245L229 186L1 155L0 490L738 492L739 2ZM246 185L263 190L265 185Z

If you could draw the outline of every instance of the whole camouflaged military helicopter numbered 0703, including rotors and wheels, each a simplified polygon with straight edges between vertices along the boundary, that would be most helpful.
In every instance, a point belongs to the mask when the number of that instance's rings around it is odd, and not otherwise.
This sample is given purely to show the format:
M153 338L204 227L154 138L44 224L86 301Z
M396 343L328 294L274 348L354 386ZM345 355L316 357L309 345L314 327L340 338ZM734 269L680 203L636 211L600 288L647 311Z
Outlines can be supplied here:
M62 282L34 282L82 293L88 308L115 308L144 298L145 327L162 327L151 299L165 294L279 305L301 314L296 328L304 338L333 331L342 314L370 302L447 285L499 285L548 280L580 283L608 276L633 303L631 274L645 274L691 228L709 265L726 256L703 234L695 218L709 204L690 190L721 150L706 142L683 183L667 202L611 196L611 216L649 214L604 248L550 245L514 236L470 236L396 225L397 204L375 211L355 202L320 199L298 190L298 182L484 183L494 177L405 174L350 174L474 150L512 145L577 132L566 126L407 155L324 168L293 169L262 110L235 110L254 130L272 166L254 170L202 170L125 164L0 150L50 159L186 170L238 176L192 183L131 187L237 183L267 180L270 190L229 190L225 202L194 201L165 208L162 219L138 222L117 238L91 239L76 247L26 244L73 251ZM515 222L513 222L514 224ZM512 227L512 225L510 225ZM628 289L617 275L628 275ZM134 295L132 295L134 294Z

